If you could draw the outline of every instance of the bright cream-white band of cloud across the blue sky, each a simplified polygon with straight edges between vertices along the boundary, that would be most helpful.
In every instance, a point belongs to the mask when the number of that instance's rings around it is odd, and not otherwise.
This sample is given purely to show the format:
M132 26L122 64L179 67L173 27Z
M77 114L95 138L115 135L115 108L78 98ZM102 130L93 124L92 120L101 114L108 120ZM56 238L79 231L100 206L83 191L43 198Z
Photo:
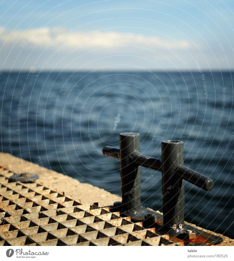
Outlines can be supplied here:
M30 45L48 46L53 45L54 47L60 46L67 43L67 47L108 47L126 44L145 45L148 47L162 47L168 44L165 39L158 37L146 38L144 35L138 34L126 34L117 32L105 32L96 31L83 33L79 31L67 31L64 28L50 29L37 28L31 30L14 30L3 29L0 27L1 42L2 44L14 44L22 42L30 42ZM191 46L186 40L176 43L171 41L170 44L176 45L176 48L183 48ZM28 44L29 45L29 44Z

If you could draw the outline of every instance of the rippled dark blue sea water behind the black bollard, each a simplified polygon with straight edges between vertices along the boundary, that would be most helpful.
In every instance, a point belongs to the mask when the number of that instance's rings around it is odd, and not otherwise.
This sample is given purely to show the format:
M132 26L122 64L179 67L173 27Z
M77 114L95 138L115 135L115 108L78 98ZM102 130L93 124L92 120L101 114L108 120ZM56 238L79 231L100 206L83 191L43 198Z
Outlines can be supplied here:
M184 165L215 182L210 192L185 183L186 221L234 238L233 73L36 75L0 75L3 152L120 195L119 162L103 156L103 146L118 147L120 132L139 132L141 153L160 157L162 140L182 140ZM141 173L142 181L153 176L142 185L142 204L161 210L161 172Z

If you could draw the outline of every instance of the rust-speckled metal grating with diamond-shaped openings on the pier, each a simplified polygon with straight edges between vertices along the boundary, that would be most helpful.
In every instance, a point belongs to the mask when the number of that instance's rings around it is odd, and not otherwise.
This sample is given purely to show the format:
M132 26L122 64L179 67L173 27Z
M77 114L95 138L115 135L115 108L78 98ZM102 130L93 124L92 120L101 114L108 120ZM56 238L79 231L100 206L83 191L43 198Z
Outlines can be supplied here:
M0 246L174 246L119 212L81 204L38 183L11 182L0 168Z

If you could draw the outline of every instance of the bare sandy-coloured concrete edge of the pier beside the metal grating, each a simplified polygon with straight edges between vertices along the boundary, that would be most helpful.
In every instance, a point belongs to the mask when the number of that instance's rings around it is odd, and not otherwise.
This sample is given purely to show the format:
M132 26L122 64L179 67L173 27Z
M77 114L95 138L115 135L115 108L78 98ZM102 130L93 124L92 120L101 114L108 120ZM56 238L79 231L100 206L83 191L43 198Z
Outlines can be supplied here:
M32 162L12 156L9 153L0 153L0 165L3 168L3 172L5 168L5 171L10 170L15 173L35 173L39 176L37 183L41 183L43 186L49 187L59 193L63 192L65 196L72 196L74 200L81 200L81 204L98 202L99 207L104 207L113 205L115 201L121 201L120 196L111 194L102 188L95 187L88 183L81 183L72 177L40 166L39 162L38 164L34 164ZM193 224L190 225L196 227ZM214 235L221 236L223 238L223 242L218 246L234 246L234 239L230 239L221 234L205 230L201 227L197 228L206 232L210 232Z

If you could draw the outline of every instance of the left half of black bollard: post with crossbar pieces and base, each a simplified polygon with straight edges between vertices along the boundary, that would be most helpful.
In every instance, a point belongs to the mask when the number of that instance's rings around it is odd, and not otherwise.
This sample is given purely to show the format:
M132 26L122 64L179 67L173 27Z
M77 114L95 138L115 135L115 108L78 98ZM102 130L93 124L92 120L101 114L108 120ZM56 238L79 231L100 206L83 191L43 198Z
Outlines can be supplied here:
M161 160L140 153L140 134L123 132L119 135L120 149L105 146L105 156L120 160L122 202L115 202L114 208L124 216L142 220L148 211L141 207L141 170L139 166L160 170ZM119 210L118 210L119 211Z

